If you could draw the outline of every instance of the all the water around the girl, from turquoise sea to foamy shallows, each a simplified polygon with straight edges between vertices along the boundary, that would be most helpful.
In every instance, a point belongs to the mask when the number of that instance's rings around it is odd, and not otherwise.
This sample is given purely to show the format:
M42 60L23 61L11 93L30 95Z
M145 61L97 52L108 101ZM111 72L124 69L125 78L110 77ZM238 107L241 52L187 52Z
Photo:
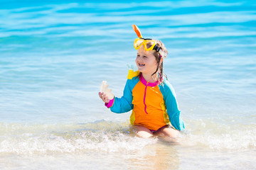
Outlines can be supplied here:
M0 2L0 169L256 169L255 1ZM97 95L122 96L132 24L169 50L176 144Z

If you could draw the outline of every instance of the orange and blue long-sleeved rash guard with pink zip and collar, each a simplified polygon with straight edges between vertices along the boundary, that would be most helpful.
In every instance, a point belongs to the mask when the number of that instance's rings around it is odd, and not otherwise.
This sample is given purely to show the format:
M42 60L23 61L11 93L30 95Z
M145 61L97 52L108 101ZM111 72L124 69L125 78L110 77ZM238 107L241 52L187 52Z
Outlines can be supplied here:
M146 82L139 71L129 70L122 98L114 97L106 106L114 113L132 110L132 125L143 125L149 130L159 130L171 125L176 130L184 130L174 88L169 81L163 83Z

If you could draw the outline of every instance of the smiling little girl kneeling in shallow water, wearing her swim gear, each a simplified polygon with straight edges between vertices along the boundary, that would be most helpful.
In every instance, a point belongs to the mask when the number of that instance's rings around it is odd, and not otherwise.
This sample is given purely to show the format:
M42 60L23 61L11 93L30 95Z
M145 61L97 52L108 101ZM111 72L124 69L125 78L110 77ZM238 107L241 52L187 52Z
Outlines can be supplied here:
M137 51L138 71L129 70L122 98L99 96L105 106L114 113L132 110L130 122L140 137L164 135L176 137L178 130L184 130L180 117L176 94L173 87L163 77L163 60L167 55L166 47L160 40L142 38L137 26L133 25L139 38L134 40Z

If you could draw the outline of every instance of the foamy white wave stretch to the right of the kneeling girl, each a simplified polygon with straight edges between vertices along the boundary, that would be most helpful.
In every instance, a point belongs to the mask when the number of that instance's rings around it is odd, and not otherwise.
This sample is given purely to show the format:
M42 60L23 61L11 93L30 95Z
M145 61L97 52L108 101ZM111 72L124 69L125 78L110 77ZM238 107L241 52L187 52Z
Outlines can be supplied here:
M253 120L247 123L238 119L229 121L191 120L190 124L193 124L193 128L186 135L181 136L179 142L181 145L205 147L219 151L255 149L256 125Z

